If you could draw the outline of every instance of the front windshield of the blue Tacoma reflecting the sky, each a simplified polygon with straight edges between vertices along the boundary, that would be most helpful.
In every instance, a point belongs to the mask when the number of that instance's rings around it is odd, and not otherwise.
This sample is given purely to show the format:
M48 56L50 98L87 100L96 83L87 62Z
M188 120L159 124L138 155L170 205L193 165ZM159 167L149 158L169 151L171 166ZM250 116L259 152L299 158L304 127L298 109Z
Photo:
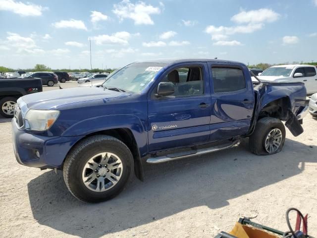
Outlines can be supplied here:
M164 65L163 63L129 64L106 80L103 87L140 93Z

